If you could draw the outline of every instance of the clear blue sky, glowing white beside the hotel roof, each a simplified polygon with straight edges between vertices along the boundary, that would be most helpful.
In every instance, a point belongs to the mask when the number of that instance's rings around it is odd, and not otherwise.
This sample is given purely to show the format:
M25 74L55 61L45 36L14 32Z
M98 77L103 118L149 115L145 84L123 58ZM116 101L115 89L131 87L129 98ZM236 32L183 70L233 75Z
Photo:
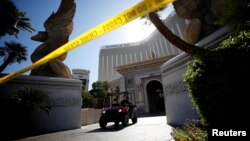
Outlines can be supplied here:
M25 11L26 17L31 19L31 25L36 31L44 31L43 23L49 15L56 11L61 0L12 0L17 8ZM73 20L73 32L70 40L95 27L108 18L119 14L127 8L134 6L141 0L75 0L76 14ZM165 12L169 13L169 12ZM165 13L163 13L165 15ZM144 21L137 19L110 33L103 35L89 43L86 43L68 53L64 63L72 69L90 70L90 86L98 79L99 50L103 45L136 42L146 38L153 30L153 25L146 26ZM20 31L19 38L6 35L0 39L0 46L6 41L17 41L28 49L28 60L18 64L9 65L3 73L15 72L32 64L30 55L41 42L32 41L31 36L36 32L29 33ZM0 58L2 63L3 58ZM29 75L26 72L24 75Z

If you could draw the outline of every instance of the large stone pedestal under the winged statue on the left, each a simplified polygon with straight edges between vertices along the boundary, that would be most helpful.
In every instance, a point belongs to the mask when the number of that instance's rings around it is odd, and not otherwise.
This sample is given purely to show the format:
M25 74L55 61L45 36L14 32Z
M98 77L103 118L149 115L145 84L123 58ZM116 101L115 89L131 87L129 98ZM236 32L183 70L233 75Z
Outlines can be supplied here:
M81 81L55 77L19 76L0 85L0 98L8 98L20 87L42 88L49 93L51 111L32 113L34 132L48 133L81 127ZM18 118L18 117L17 117Z

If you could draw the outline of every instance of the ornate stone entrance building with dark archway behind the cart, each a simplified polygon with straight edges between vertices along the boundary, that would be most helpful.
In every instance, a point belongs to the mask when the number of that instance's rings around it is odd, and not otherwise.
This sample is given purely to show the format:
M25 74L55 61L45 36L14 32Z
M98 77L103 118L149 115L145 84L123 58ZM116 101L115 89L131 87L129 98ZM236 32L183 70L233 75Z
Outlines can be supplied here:
M137 105L138 114L165 112L160 66L176 55L117 67L122 74L121 91L131 93L131 102Z

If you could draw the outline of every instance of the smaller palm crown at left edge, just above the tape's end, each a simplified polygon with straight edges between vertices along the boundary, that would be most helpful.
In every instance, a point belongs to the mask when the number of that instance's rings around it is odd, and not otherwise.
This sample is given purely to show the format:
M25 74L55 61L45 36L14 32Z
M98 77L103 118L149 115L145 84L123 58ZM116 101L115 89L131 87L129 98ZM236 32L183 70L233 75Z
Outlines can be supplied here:
M8 65L18 62L19 64L27 60L27 50L25 46L16 42L5 42L4 47L0 47L0 56L4 57L4 62L0 66L0 72L2 72Z

